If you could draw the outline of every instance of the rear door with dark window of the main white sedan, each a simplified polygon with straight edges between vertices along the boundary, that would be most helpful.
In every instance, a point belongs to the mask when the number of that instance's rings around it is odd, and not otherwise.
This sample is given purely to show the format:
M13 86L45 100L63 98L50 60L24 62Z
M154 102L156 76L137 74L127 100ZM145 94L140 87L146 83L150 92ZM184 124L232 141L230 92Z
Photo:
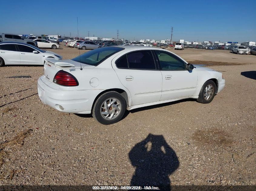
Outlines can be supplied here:
M162 75L151 50L134 51L118 58L112 60L112 67L130 91L131 105L159 101Z

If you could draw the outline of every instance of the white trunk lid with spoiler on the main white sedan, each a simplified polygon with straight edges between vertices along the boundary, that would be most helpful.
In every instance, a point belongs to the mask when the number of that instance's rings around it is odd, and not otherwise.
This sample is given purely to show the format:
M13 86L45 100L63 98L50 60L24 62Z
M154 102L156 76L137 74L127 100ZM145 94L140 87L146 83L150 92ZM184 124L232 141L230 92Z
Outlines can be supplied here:
M81 64L73 60L55 60L54 58L46 58L44 64L44 75L48 81L53 82L56 73L59 70L65 70L75 76L75 71L80 68L94 68L95 66Z

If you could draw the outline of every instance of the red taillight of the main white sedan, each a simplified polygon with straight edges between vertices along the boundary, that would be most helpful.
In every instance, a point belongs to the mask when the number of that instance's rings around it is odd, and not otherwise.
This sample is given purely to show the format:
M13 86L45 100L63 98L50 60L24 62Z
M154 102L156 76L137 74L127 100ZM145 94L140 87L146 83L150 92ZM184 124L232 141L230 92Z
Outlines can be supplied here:
M70 73L60 70L54 76L53 82L62 86L78 86L77 79Z

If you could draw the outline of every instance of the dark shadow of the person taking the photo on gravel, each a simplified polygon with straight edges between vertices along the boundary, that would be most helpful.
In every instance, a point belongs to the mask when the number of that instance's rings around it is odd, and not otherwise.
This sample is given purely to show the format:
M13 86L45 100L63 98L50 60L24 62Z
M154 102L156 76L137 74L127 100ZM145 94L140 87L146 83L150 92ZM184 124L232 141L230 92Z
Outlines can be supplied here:
M179 161L163 135L149 134L131 149L129 158L136 168L131 186L157 186L161 190L171 190L168 176L179 167Z

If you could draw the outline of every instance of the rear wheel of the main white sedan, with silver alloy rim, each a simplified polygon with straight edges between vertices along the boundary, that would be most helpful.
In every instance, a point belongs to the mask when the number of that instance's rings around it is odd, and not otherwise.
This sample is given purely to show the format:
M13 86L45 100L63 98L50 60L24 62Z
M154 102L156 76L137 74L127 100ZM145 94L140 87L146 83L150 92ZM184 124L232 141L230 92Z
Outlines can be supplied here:
M92 109L92 116L99 123L109 125L120 121L125 110L124 97L116 91L109 91L98 97Z

